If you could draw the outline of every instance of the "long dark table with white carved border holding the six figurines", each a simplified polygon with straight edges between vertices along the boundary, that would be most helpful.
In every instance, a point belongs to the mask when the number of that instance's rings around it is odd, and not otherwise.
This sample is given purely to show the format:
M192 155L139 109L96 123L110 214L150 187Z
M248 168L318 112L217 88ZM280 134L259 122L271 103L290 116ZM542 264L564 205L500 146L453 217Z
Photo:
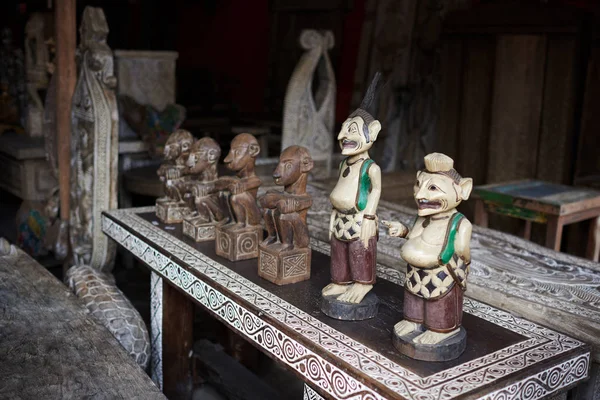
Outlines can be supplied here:
M317 197L311 219L321 221L325 196L311 190ZM320 235L317 224L309 225ZM160 223L153 207L105 212L102 227L153 273L153 379L168 396L189 379L193 305L294 371L306 382L305 399L537 399L588 376L587 345L471 298L461 357L427 363L400 355L391 335L401 319L404 273L378 265L376 319L330 319L319 307L329 282L329 245L318 239L311 241L311 279L280 287L258 277L256 260L216 256L214 243L184 238L181 226Z

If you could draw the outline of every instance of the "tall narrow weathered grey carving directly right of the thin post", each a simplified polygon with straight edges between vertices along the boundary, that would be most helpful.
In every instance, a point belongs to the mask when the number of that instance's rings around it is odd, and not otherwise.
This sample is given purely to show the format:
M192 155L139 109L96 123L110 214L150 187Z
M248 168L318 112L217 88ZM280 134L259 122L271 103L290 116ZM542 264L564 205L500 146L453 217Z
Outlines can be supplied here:
M75 264L110 271L115 247L94 223L102 210L117 207L117 81L102 9L84 10L80 35L71 111L71 247Z

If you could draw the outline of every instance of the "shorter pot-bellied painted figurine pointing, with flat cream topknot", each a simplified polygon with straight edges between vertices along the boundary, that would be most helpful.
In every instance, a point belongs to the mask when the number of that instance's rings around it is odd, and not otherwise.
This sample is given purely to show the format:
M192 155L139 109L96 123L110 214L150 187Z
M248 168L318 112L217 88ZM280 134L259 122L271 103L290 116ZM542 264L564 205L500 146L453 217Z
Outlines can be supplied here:
M453 165L444 154L425 156L415 183L413 227L382 221L391 236L408 239L400 253L407 263L404 319L394 326L394 345L419 360L452 360L466 345L461 321L472 228L456 207L469 198L473 180L462 178Z

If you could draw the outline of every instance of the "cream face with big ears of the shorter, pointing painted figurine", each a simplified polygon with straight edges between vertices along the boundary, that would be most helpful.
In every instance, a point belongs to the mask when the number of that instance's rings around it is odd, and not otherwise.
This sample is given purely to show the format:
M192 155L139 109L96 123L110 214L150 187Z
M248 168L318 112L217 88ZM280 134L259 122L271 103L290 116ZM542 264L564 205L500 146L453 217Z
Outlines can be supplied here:
M419 171L414 187L417 213L424 217L456 208L462 200L469 198L472 185L470 178L463 178L456 184L443 174Z

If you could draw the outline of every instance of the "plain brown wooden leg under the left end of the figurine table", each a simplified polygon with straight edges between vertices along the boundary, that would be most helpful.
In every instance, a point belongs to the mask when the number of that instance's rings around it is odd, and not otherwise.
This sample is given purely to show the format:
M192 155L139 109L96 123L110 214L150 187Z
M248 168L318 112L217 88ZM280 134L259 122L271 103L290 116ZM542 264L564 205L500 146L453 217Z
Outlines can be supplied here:
M194 304L167 283L162 291L163 393L169 399L190 399Z

